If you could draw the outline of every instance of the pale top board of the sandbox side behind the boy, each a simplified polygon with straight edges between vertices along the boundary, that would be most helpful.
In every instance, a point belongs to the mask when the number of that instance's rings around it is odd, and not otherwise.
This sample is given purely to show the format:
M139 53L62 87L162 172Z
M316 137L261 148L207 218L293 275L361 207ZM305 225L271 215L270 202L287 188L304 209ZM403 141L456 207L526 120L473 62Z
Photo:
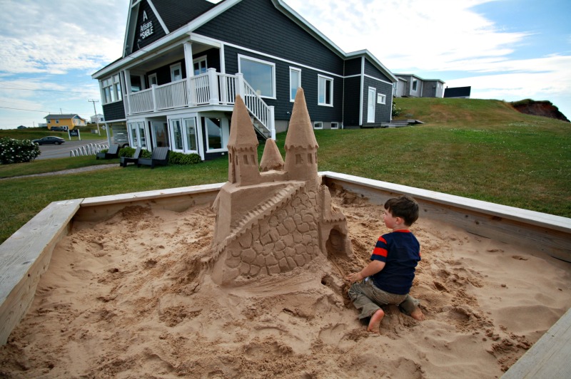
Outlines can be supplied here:
M430 200L431 202L437 202L459 209L467 209L473 212L489 214L490 216L502 217L504 219L511 219L517 222L523 222L525 224L532 224L538 227L545 227L547 229L555 229L560 232L571 233L571 219L567 217L555 216L554 214L535 212L492 202L484 202L482 200L469 199L468 197L460 197L453 194L445 194L443 192L422 190L420 188L408 187L405 185L396 185L390 182L382 182L380 180L340 174L338 172L332 171L319 172L319 175L322 177L328 177L333 180L342 180L352 184L363 185L365 187L371 187L389 192L409 194L412 197Z

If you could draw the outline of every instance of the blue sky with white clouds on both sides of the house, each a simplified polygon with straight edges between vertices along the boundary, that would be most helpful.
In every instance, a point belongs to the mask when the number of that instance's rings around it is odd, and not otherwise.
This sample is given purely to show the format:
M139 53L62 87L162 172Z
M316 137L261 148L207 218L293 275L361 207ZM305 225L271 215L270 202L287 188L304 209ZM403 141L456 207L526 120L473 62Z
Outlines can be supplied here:
M571 119L569 0L284 1L393 73L470 85L472 98L550 100ZM0 0L0 128L103 113L91 74L120 58L129 3Z

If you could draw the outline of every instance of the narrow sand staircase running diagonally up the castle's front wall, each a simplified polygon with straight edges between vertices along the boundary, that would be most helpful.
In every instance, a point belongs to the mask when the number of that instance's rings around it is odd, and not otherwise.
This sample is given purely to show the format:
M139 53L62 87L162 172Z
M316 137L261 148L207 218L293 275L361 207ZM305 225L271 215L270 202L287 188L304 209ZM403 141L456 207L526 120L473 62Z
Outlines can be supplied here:
M230 234L228 234L228 237L223 239L216 246L213 246L213 258L218 258L218 255L226 246L228 246L228 244L241 237L241 235L251 229L253 225L257 224L262 219L271 216L271 214L276 212L277 209L290 202L304 186L305 182L289 182L286 187L278 190L278 192L273 197L267 199L266 202L258 204L256 208L252 209L248 214L242 217L238 224L236 224L236 227L234 227Z

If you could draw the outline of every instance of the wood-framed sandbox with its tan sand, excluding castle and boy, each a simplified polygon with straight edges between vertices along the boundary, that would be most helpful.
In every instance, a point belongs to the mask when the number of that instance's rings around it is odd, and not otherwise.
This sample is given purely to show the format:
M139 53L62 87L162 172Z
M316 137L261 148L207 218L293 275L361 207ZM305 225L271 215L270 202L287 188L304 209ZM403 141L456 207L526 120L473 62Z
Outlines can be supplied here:
M188 258L211 244L211 205L222 184L50 204L0 246L7 342L0 373L569 372L570 219L335 172L320 177L348 218L353 259L314 259L306 269L226 288L208 277L197 287L199 268ZM372 335L344 296L343 274L365 264L385 232L379 204L397 194L422 209L412 229L423 246L413 296L427 320L389 308L380 335Z

